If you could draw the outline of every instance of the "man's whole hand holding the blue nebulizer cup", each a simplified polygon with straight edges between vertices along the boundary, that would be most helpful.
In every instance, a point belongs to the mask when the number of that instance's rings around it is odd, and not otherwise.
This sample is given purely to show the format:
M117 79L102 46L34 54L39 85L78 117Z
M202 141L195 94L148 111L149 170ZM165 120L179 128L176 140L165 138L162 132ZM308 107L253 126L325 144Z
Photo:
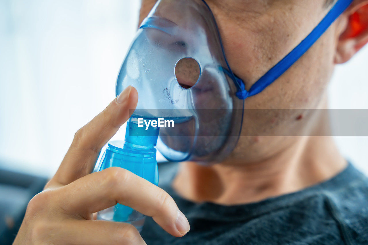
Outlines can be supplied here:
M55 176L29 202L14 244L145 244L130 224L93 220L93 213L117 203L152 216L176 237L189 231L171 196L151 182L119 167L91 174L137 101L137 90L128 87L77 131Z

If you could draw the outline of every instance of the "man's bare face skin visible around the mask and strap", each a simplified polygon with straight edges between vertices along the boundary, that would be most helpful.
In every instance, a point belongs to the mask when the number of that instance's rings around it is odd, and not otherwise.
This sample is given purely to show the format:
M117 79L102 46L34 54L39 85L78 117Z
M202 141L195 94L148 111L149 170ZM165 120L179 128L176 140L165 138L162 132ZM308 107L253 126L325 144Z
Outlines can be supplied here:
M246 89L294 49L328 12L321 0L206 0L215 15L225 53ZM156 0L142 0L140 21ZM287 148L315 123L314 110L325 106L326 85L334 67L339 33L336 23L282 77L245 100L240 141L232 163L260 161ZM252 135L252 136L250 136ZM254 135L267 135L254 136ZM281 136L283 135L283 136Z

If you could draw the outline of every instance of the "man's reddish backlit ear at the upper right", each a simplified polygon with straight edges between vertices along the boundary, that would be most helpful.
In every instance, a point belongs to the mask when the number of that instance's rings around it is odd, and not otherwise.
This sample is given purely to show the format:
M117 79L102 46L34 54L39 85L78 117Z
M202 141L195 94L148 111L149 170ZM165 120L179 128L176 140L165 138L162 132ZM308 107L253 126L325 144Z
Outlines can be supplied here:
M335 64L350 60L368 43L368 0L354 0L340 17Z

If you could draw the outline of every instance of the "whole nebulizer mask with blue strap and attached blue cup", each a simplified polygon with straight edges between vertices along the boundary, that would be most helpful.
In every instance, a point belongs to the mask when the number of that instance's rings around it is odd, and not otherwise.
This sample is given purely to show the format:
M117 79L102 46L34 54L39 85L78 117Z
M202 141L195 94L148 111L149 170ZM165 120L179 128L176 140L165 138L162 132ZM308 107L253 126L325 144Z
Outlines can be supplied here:
M139 27L117 79L116 95L128 86L137 89L137 109L125 142L109 143L99 170L123 167L157 185L155 146L170 161L223 160L238 141L244 100L290 68L351 1L337 1L307 38L245 90L226 60L208 4L159 0ZM98 219L128 222L138 230L144 222L142 214L120 204L99 212Z

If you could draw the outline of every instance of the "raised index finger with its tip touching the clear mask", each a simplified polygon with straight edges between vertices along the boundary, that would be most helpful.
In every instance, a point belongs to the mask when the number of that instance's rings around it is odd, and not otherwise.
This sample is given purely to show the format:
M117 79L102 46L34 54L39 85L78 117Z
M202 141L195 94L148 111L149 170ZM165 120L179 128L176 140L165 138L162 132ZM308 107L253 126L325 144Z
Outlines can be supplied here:
M91 173L101 148L129 119L137 102L137 90L129 86L105 110L79 129L49 185L66 185Z

